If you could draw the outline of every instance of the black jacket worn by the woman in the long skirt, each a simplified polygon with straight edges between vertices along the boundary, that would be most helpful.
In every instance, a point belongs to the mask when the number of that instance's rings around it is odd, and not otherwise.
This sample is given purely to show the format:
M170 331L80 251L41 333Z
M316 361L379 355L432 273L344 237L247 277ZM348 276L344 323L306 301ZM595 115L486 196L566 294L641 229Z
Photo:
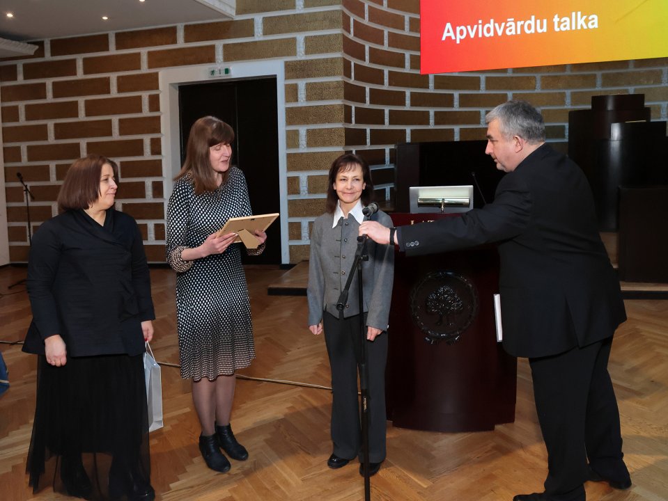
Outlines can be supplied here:
M55 334L68 356L144 351L141 321L155 314L131 216L109 209L101 226L77 210L45 221L33 236L26 285L33 321L24 351L43 354Z

